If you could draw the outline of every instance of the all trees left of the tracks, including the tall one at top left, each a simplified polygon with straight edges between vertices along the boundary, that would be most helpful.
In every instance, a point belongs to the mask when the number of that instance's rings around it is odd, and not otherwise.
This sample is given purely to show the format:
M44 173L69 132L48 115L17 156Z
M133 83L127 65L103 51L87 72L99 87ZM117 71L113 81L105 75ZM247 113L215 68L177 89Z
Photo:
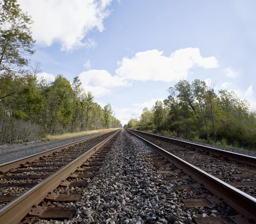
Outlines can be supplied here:
M111 105L101 108L78 77L72 83L61 75L51 83L37 79L41 64L29 62L32 23L17 0L0 0L0 144L120 127Z

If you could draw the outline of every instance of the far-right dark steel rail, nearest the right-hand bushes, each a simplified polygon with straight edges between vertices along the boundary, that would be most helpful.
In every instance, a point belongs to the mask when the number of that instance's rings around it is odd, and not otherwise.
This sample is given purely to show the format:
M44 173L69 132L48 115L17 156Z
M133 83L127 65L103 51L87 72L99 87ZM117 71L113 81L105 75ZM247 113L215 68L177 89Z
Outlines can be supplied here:
M191 142L185 142L185 141L178 140L178 139L171 139L171 138L168 138L168 137L159 136L159 135L155 135L155 134L152 134L152 133L145 133L145 132L139 131L139 130L133 130L133 129L128 129L128 128L126 128L126 129L131 130L131 131L135 131L135 132L138 132L138 133L143 133L143 134L146 134L146 135L149 135L149 136L158 137L160 139L167 139L169 141L180 143L180 144L186 145L188 147L195 147L195 149L198 149L198 150L201 150L201 151L202 150L203 151L208 151L209 153L212 153L212 154L215 154L215 155L218 155L218 156L221 155L221 156L236 160L238 162L247 163L247 164L256 166L256 157L253 157L253 156L246 156L244 154L233 153L233 152L229 152L229 151L225 151L225 150L221 150L221 149L216 149L216 148L209 147L209 146L198 145L198 144L191 143Z

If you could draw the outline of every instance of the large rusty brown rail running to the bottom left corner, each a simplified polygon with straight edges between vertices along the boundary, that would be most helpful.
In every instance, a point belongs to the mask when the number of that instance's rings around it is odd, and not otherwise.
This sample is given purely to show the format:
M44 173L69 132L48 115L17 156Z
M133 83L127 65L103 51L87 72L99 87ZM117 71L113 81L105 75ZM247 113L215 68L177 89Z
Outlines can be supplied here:
M96 146L92 147L90 150L79 156L77 159L73 160L69 164L62 167L57 172L53 173L48 178L44 179L40 183L36 184L34 187L23 193L21 196L6 204L0 209L0 223L4 224L15 224L18 223L22 218L24 218L27 213L31 210L33 205L39 204L44 200L48 192L54 190L61 181L67 179L70 173L76 171L77 167L80 167L84 161L90 158L102 145L108 142L113 136L115 136L119 131L109 136L107 139L103 140Z

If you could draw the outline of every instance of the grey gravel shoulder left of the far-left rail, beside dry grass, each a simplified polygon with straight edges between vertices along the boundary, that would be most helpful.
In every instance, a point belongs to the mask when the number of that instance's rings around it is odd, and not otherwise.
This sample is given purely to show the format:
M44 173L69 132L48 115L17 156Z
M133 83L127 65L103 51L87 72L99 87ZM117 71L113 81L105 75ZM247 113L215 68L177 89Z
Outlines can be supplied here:
M72 142L90 138L96 135L99 135L99 134L94 133L90 135L79 136L72 139L63 139L63 140L52 141L52 142L38 143L37 141L32 141L32 142L26 142L26 145L18 144L18 143L0 145L0 164L9 162L15 159L20 159L25 156L30 156L35 153L41 153L48 149L60 147L62 145L70 144Z

